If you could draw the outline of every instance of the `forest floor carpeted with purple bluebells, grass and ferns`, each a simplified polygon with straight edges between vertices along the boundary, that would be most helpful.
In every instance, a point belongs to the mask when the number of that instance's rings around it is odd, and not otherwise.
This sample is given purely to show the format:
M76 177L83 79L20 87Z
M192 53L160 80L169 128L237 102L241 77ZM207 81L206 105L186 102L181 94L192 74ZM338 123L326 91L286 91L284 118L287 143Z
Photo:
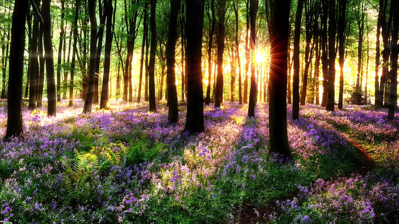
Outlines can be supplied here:
M1 101L0 104L6 102ZM25 104L26 102L24 102ZM27 105L24 105L27 106ZM167 122L166 102L23 109L24 140L0 141L0 220L13 223L397 223L399 114L300 108L294 161L268 158L268 106L205 106L205 132ZM0 108L0 136L6 128Z

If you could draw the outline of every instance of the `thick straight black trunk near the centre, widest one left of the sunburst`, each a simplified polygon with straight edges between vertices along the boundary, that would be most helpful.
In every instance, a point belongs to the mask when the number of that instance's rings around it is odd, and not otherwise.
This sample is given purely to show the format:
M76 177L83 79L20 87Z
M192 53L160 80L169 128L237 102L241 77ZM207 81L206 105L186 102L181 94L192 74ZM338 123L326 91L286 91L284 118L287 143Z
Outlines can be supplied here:
M186 2L187 38L187 116L184 130L191 133L203 132L203 92L202 92L202 28L204 0Z

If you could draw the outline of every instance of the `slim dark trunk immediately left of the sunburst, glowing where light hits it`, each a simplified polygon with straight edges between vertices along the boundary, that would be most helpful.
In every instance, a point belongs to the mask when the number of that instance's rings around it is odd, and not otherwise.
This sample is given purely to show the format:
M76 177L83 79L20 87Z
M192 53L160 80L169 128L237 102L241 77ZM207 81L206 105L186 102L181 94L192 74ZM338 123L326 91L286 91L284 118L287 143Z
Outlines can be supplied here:
M256 13L258 11L258 0L250 0L249 17L251 24L251 40L249 48L251 49L251 62L255 61L255 47L256 47ZM288 27L287 27L288 28ZM288 43L287 43L288 45ZM285 59L286 60L286 59ZM256 103L256 89L257 84L255 80L255 66L251 63L251 89L249 90L249 104L248 104L248 116L255 117L255 103Z

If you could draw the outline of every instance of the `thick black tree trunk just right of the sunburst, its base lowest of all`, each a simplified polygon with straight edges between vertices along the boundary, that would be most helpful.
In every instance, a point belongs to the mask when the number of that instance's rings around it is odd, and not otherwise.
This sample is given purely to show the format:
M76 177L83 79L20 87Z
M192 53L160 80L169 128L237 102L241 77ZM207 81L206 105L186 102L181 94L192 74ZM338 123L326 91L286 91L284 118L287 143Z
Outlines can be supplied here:
M287 50L290 0L275 1L272 19L271 41L272 63L270 76L269 102L269 153L283 155L292 160L287 135ZM270 155L270 154L269 154Z

